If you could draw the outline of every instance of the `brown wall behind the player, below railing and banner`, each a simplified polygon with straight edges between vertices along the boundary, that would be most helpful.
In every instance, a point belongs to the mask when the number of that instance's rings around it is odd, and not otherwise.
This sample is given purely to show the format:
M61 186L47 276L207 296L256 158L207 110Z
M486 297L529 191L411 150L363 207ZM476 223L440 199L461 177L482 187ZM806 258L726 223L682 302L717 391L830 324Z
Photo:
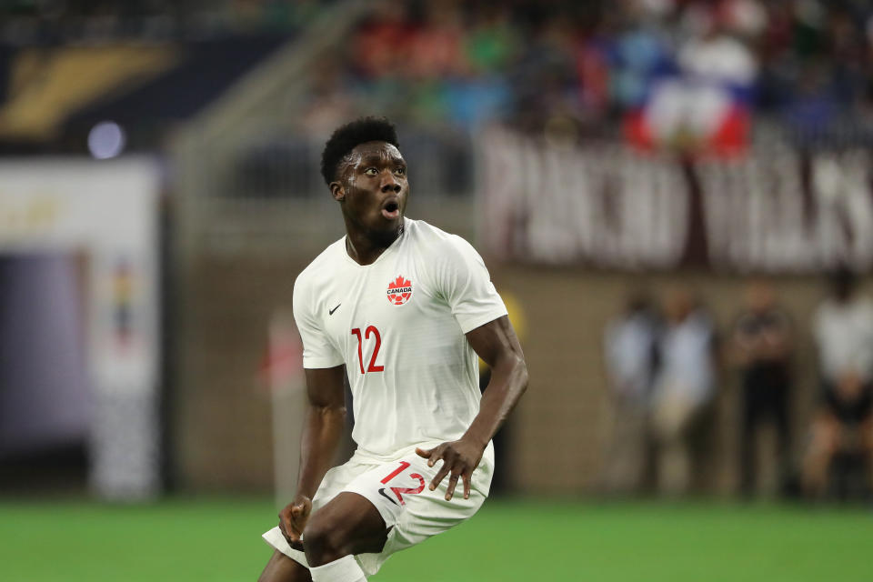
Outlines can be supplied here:
M289 307L294 279L309 257L239 261L201 258L184 307L182 358L173 397L178 483L195 490L266 491L272 487L270 400L258 369L267 325ZM574 269L500 266L489 262L497 287L515 296L527 316L523 344L530 388L511 419L510 479L529 494L597 489L610 422L602 365L602 335L632 289L657 296L677 281L696 288L725 332L741 305L747 278L687 272L637 276ZM795 444L802 442L815 396L809 320L824 292L816 277L774 279L798 327L797 382L792 401ZM720 376L711 453L699 486L732 491L738 433L736 372Z

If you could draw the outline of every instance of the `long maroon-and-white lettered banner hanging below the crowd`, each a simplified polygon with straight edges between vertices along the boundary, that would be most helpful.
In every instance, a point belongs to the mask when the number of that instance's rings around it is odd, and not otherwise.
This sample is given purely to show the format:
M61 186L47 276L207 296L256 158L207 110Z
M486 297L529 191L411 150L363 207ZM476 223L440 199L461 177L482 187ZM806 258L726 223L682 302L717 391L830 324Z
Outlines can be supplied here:
M873 264L867 150L802 157L777 145L690 161L504 129L477 149L480 233L504 259L770 272Z

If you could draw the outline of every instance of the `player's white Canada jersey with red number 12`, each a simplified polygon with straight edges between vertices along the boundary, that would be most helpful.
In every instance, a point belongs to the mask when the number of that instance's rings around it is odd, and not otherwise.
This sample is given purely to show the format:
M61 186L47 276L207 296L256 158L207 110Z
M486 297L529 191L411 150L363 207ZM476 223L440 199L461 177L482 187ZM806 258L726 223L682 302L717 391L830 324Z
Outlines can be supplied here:
M358 451L461 437L479 409L477 356L465 334L507 315L485 263L463 238L420 220L372 265L336 241L297 277L303 366L346 365Z

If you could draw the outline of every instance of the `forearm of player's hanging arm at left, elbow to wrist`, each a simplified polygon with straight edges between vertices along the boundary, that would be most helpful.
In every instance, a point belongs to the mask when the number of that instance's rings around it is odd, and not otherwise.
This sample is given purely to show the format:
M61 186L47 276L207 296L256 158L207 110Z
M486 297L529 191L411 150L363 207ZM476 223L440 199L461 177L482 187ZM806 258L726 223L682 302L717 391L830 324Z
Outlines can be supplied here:
M309 406L300 444L297 495L311 498L316 494L318 484L334 465L336 447L345 423L345 406Z

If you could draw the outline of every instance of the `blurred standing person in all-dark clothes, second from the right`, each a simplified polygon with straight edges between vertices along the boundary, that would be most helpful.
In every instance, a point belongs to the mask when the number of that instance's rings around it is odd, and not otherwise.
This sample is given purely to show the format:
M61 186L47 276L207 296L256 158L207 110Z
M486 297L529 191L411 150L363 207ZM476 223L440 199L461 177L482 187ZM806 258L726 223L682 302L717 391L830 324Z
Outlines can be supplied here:
M731 344L742 376L739 469L740 490L745 496L750 496L756 486L756 437L758 427L767 421L776 426L779 476L782 487L787 485L793 331L788 314L777 304L773 287L763 281L751 283Z

